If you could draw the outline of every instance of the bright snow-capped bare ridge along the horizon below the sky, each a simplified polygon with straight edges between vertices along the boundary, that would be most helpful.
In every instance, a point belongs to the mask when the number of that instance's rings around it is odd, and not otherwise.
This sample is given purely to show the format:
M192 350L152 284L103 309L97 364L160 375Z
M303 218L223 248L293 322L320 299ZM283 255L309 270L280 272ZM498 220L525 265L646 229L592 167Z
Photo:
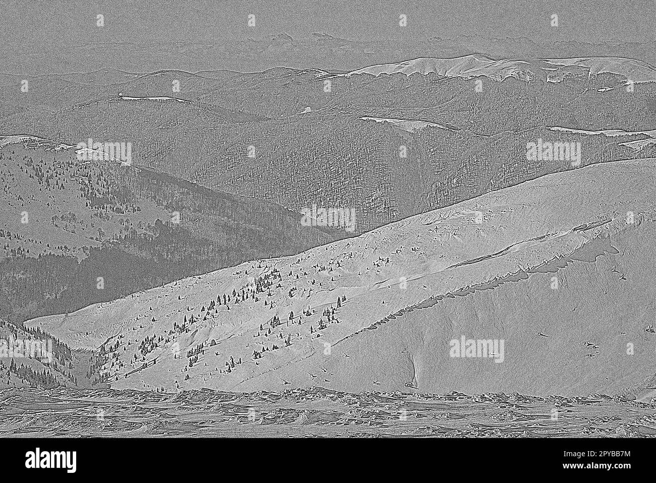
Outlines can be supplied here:
M340 76L354 74L438 74L443 77L474 78L485 76L502 81L508 77L520 80L539 79L560 82L568 75L597 75L609 72L624 76L634 83L656 81L656 69L631 58L590 57L495 60L484 55L466 55L456 58L420 57L404 62L368 66Z

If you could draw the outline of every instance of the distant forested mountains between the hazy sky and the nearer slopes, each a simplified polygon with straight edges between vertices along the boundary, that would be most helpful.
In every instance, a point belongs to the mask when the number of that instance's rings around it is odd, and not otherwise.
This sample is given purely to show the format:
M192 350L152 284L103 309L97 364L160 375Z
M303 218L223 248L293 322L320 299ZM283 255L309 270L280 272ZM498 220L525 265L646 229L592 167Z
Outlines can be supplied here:
M651 79L646 63L610 57L420 58L351 73L104 69L3 89L0 133L129 142L134 166L297 213L355 209L363 233L572 168L527 164L537 139L582 143L583 164L653 156ZM589 134L607 129L634 134Z

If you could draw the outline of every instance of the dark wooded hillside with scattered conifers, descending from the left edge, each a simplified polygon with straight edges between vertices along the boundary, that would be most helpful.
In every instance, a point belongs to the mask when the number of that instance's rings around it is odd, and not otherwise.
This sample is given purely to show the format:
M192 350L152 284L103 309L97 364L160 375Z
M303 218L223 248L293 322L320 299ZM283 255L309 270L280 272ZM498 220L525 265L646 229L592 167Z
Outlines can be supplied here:
M19 326L349 235L44 139L1 138L0 173L0 319Z

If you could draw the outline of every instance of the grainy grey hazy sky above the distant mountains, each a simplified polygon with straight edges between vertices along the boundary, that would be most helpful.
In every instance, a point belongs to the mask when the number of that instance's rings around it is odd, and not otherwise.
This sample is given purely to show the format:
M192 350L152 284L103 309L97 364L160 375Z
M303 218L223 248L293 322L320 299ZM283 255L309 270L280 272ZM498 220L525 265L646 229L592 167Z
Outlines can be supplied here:
M5 1L0 69L350 70L413 57L625 55L652 62L656 1ZM550 26L558 14L558 28ZM96 15L104 15L104 27ZM247 25L255 15L255 27ZM407 26L399 26L399 14Z

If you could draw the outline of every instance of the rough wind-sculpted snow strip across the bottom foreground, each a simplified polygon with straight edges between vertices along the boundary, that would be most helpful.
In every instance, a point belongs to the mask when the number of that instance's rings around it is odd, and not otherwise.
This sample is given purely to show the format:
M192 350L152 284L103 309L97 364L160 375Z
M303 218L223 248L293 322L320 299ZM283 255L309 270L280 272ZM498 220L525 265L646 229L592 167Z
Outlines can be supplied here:
M0 436L653 438L656 404L592 394L348 394L322 388L0 391Z

